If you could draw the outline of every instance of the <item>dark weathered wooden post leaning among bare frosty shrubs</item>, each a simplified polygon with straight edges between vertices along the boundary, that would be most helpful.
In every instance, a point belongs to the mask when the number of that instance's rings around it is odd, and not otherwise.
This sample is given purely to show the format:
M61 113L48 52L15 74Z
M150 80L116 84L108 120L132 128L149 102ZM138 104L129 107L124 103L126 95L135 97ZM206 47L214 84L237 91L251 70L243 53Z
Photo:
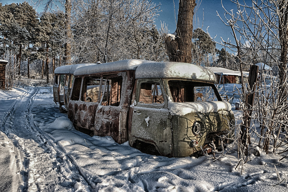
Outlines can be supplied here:
M247 102L247 111L243 114L243 121L244 124L241 126L241 143L242 146L245 146L245 155L248 155L248 143L251 144L250 135L249 135L249 129L250 129L250 122L251 122L251 115L253 110L253 103L254 103L254 97L255 97L255 89L256 89L256 82L258 78L258 68L257 65L252 65L249 70L249 78L248 78L248 90L250 90L250 94L245 94L245 102Z

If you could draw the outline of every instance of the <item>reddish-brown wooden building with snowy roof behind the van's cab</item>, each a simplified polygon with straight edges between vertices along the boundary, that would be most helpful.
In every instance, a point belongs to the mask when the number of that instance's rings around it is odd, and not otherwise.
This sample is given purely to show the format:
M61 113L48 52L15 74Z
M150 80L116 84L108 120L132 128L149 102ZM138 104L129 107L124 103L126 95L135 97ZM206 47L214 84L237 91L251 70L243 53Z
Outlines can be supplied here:
M240 71L233 71L222 67L207 67L216 75L216 81L218 84L236 83L241 84ZM244 79L248 79L249 72L243 71Z

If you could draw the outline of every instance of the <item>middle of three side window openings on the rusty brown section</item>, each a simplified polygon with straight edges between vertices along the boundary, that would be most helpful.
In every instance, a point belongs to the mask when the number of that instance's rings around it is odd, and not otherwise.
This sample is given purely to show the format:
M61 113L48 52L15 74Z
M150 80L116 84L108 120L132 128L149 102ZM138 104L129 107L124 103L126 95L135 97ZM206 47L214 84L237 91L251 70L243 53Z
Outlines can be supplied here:
M86 77L84 79L82 101L97 102L99 86L100 86L99 77Z

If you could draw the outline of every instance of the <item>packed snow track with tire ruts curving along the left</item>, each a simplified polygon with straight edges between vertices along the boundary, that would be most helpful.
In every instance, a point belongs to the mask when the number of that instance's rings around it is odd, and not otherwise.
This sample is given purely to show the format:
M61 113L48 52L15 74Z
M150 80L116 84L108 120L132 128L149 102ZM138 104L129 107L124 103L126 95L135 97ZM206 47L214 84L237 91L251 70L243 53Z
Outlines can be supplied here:
M14 141L14 145L24 153L23 191L67 191L81 180L73 164L54 150L54 143L47 141L43 132L35 126L30 114L38 88L31 88L9 109L9 114L2 121L5 134ZM17 104L17 105L16 105ZM54 146L55 145L55 146ZM61 158L59 158L61 157ZM82 182L83 183L83 182ZM85 183L84 183L85 184Z

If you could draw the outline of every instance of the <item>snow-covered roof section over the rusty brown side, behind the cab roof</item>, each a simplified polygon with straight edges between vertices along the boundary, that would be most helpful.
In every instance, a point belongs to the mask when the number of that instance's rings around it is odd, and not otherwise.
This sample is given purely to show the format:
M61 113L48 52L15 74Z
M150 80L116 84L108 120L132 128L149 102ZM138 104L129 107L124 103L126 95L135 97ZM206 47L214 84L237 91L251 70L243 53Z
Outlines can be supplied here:
M74 75L88 75L108 71L136 70L141 64L147 62L141 59L126 59L97 65L84 66L75 70Z

